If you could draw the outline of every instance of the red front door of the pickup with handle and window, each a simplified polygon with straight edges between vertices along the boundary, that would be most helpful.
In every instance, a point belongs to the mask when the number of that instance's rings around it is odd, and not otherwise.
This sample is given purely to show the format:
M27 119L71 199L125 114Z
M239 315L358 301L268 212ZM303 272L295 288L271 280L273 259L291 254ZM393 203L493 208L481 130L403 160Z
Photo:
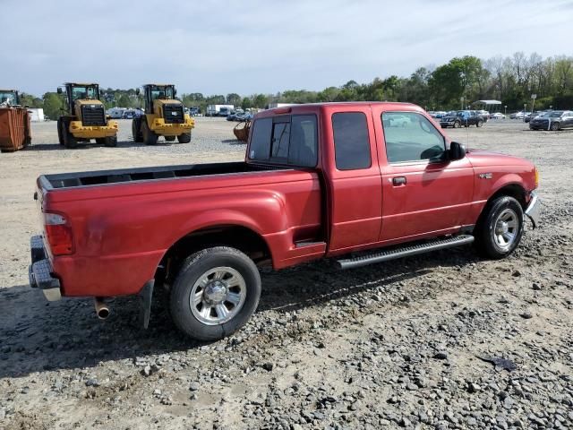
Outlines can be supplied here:
M393 121L395 116L406 121ZM420 112L380 111L373 117L383 136L380 241L447 234L466 225L474 193L469 160L446 159L445 136Z

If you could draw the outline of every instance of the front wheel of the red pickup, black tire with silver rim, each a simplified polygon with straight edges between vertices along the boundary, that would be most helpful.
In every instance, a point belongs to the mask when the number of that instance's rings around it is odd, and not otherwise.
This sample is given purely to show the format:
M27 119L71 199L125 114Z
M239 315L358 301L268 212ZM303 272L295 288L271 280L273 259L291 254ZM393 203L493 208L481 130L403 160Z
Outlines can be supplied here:
M515 227L504 230L500 221L509 215L508 226L511 220L515 220ZM523 236L523 209L513 197L502 195L488 202L480 219L475 226L475 247L479 254L484 257L499 260L507 257L519 245ZM500 229L496 229L496 226ZM511 234L512 239L507 245L500 245L500 241L507 240L505 234ZM501 237L500 237L501 236Z

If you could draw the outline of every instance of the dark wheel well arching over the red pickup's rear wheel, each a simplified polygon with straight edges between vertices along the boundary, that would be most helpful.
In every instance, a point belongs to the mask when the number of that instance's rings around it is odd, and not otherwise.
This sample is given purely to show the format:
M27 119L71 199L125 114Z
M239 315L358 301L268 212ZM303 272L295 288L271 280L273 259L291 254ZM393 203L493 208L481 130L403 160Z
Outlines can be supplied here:
M269 245L250 228L218 226L202 228L182 237L172 245L158 266L156 280L170 284L184 259L211 246L231 246L247 254L256 264L270 262Z

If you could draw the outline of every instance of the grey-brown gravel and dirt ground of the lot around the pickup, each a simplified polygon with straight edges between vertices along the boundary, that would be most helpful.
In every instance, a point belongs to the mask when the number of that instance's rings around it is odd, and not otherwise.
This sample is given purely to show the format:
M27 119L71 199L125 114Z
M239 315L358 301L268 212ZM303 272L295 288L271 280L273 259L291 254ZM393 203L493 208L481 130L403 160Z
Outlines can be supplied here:
M258 312L211 344L186 340L157 297L99 322L90 300L27 283L40 173L242 159L233 124L198 118L189 144L64 150L56 125L0 155L0 428L573 428L570 131L515 121L450 130L533 160L541 228L503 261L471 248L336 271L263 271ZM469 142L468 142L469 141Z

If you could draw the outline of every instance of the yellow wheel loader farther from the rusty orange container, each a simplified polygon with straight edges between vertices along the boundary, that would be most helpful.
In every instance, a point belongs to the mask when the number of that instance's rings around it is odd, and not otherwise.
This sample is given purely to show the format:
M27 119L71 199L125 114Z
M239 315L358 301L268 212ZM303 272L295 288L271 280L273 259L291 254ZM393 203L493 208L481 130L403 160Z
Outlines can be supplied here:
M145 113L133 118L133 142L155 145L158 137L167 142L191 142L191 130L195 121L185 114L181 101L175 99L175 85L148 83L143 85ZM139 89L137 94L140 94Z

